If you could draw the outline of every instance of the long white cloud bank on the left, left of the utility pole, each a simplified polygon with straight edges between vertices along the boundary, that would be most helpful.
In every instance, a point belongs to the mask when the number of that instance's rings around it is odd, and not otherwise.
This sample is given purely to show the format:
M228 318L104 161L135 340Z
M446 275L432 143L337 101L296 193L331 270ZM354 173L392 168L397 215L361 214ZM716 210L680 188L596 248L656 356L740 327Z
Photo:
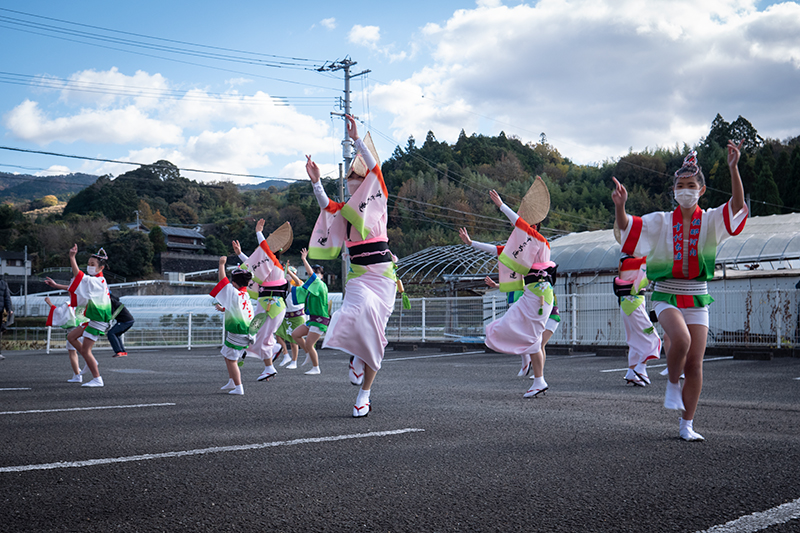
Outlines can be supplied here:
M79 75L87 79L86 72ZM91 75L95 80L121 76L116 69L107 73L91 71ZM158 74L137 73L128 78L162 80L162 85L167 85ZM229 84L231 81L235 80L229 80ZM147 106L110 95L98 99L94 107L86 105L77 112L66 105L63 95L60 106L26 100L5 115L4 124L10 135L39 145L120 145L127 150L126 155L118 156L122 160L149 164L166 159L179 167L241 174L273 175L275 171L270 167L276 159L283 166L287 159L303 160L304 152L327 154L331 146L339 143L338 135L332 137L328 122L261 91L246 95L233 89L222 94L192 89L178 99L171 94L169 98L165 94L154 99ZM77 93L68 95L70 103L76 96ZM87 162L81 170L118 175L130 169L129 165ZM204 174L191 177L219 178ZM252 182L247 178L230 179Z

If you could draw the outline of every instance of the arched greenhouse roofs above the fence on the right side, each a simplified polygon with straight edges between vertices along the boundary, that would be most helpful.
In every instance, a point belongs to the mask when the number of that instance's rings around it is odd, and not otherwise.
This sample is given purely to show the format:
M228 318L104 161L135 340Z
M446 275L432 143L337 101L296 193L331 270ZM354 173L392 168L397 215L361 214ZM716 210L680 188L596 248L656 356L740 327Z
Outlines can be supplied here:
M571 233L552 240L550 247L560 274L615 271L619 262L612 230ZM742 233L719 247L716 262L741 270L800 268L800 213L748 219ZM441 283L496 271L496 257L466 245L426 248L397 263L405 283Z

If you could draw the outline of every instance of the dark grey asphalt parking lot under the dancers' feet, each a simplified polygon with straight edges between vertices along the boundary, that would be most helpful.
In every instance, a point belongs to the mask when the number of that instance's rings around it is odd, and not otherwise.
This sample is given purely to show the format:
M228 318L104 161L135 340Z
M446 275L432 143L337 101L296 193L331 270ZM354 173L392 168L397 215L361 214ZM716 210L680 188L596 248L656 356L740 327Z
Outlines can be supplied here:
M684 442L663 360L638 388L551 355L523 399L518 357L388 351L353 419L337 351L269 382L247 359L243 396L216 349L101 350L96 389L65 351L4 355L0 531L800 531L800 359L708 357Z

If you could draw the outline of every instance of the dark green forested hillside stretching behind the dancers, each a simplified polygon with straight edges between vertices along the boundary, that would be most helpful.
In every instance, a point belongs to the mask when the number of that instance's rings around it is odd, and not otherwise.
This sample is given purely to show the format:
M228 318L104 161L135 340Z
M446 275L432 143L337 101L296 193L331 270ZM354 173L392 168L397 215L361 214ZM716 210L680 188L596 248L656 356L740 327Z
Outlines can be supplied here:
M430 132L421 146L412 138L389 157L381 154L389 189L390 244L400 257L432 245L454 244L460 242L460 226L467 226L479 240L504 240L509 226L488 191L497 189L516 208L537 174L550 189L551 211L543 233L551 237L610 228L612 176L628 188L629 212L671 209L672 173L692 148L698 150L708 185L701 207L719 205L730 191L725 152L729 138L745 140L739 168L753 215L796 210L800 137L763 139L742 117L728 123L718 115L696 145L632 152L597 166L572 163L544 135L539 142L524 144L503 133L486 137L462 132L451 145L437 141ZM335 198L337 184L329 180L325 186ZM189 180L172 163L158 161L116 178L97 179L70 198L62 215L29 220L12 204L0 206L0 248L22 250L27 245L38 270L65 266L73 243L82 253L104 246L112 271L129 279L148 277L153 275L153 254L160 249L158 239L107 231L114 223L136 220L137 213L149 227L201 226L211 254L231 254L234 239L245 249L255 247L253 226L258 218L266 219L268 229L288 220L295 232L289 257L299 262L299 250L308 243L319 208L306 181L281 189L242 191L232 183Z

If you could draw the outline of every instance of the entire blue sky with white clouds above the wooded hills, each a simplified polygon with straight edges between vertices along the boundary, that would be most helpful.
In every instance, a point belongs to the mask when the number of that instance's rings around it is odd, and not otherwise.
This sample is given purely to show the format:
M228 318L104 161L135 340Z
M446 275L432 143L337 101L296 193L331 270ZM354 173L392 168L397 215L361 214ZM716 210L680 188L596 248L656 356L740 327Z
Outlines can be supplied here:
M718 113L785 140L800 135L798 36L798 2L4 0L0 171L166 159L257 183L307 179L309 154L338 175L343 76L318 69L347 58L369 71L352 112L382 159L464 130L545 134L599 164L693 145Z

